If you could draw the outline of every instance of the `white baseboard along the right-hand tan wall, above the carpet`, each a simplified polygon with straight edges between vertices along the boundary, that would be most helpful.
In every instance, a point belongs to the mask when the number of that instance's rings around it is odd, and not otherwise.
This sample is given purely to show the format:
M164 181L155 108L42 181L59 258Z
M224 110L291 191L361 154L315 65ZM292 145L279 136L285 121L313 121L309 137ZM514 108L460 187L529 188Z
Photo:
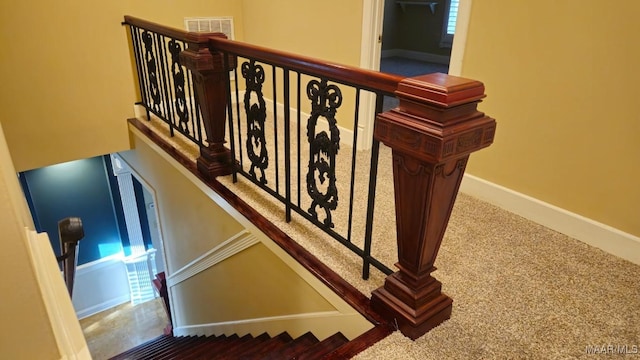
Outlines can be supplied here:
M460 191L640 265L640 238L549 203L465 174Z

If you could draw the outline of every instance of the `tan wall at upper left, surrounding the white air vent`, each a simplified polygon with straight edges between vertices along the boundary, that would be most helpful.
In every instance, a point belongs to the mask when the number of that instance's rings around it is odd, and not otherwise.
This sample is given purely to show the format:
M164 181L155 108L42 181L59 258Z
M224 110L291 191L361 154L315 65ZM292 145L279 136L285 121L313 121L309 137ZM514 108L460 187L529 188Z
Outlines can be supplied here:
M0 122L18 171L129 148L135 102L126 14L183 27L185 16L233 16L241 3L115 0L0 5Z

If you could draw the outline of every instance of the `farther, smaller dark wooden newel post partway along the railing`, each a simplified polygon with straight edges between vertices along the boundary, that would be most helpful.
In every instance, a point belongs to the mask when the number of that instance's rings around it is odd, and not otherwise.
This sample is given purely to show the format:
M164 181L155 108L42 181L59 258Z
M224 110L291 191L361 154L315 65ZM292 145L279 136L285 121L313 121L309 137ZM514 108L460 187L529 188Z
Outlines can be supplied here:
M225 68L224 56L211 52L207 38L212 34L195 36L189 47L180 53L181 63L193 74L195 93L207 135L207 147L200 147L198 170L208 179L228 175L233 171L231 152L225 144L227 111L227 75L235 68L235 57L229 57ZM223 34L215 36L225 37Z

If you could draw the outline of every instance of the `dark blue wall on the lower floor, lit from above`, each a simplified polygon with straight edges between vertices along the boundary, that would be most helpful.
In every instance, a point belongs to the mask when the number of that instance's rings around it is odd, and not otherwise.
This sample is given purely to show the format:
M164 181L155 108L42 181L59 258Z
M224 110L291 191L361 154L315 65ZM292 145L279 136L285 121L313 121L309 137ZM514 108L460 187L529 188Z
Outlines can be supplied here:
M99 156L20 174L36 229L49 234L56 255L60 255L58 221L70 216L82 219L85 236L78 248L78 265L122 250L122 225L114 207L121 206L120 196L112 196L106 165Z

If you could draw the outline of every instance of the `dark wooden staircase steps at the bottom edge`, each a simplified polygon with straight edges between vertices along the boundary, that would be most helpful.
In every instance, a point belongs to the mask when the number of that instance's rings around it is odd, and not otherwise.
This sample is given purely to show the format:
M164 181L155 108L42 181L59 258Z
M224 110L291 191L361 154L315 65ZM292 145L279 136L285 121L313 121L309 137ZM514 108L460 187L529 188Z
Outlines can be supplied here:
M134 359L330 359L330 353L349 340L341 333L320 341L312 333L293 339L283 332L253 337L163 335L117 355L111 360Z

